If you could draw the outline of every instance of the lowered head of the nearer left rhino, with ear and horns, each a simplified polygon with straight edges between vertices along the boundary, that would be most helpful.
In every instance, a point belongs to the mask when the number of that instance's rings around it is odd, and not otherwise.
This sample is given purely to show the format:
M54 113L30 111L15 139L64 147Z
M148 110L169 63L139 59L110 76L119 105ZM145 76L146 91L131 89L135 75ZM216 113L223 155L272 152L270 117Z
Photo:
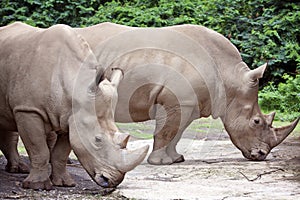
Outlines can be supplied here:
M111 80L98 77L73 96L72 149L91 178L102 187L120 184L125 173L140 164L149 149L126 149L129 135L118 132L114 123L117 87L122 76L120 70L115 70ZM80 79L78 87L91 80L89 76Z

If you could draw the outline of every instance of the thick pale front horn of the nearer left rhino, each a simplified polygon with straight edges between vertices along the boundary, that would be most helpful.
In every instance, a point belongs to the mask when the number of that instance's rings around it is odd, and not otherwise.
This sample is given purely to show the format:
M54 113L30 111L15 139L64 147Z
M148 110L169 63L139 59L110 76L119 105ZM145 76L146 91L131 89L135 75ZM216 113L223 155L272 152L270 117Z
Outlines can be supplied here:
M121 158L116 160L116 167L123 173L133 170L146 157L149 145L135 150L121 149Z

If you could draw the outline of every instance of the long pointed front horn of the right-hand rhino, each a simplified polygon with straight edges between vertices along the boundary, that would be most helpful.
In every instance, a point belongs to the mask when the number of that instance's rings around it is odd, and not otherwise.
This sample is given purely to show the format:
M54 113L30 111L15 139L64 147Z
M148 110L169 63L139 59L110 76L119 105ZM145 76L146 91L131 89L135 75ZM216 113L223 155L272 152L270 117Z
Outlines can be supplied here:
M294 130L299 122L299 119L300 118L296 119L290 125L272 128L271 130L273 131L274 137L271 140L270 146L273 148L280 144Z

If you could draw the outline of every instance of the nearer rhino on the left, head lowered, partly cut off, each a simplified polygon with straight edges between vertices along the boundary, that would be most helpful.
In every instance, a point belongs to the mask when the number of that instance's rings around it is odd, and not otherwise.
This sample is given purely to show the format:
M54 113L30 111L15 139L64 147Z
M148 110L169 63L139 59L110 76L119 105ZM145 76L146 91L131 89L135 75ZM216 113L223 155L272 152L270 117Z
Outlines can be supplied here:
M125 149L128 137L114 123L121 71L102 80L88 43L73 29L16 22L0 28L0 43L0 149L7 171L26 171L16 149L19 133L30 158L24 188L74 186L66 170L71 148L103 187L118 185L142 162L148 147ZM50 152L53 132L58 135Z

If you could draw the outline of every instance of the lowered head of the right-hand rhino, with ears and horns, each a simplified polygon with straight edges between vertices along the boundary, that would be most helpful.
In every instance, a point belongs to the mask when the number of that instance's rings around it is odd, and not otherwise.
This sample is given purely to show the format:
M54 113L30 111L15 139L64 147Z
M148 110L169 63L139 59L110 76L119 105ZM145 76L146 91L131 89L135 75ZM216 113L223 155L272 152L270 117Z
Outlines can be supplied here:
M227 89L227 106L221 117L233 144L245 158L264 160L272 148L280 144L296 127L299 118L288 126L275 128L272 122L275 112L261 113L258 106L258 80L267 64L250 70L245 63L238 66L239 78Z

